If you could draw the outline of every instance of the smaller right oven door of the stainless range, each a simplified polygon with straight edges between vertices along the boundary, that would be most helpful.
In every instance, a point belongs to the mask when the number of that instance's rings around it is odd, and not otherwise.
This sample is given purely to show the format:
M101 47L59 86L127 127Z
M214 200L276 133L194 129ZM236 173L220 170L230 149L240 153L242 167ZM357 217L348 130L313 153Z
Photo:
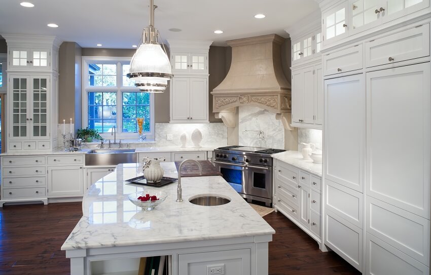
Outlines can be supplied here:
M272 167L259 167L248 165L248 190L247 194L272 198Z

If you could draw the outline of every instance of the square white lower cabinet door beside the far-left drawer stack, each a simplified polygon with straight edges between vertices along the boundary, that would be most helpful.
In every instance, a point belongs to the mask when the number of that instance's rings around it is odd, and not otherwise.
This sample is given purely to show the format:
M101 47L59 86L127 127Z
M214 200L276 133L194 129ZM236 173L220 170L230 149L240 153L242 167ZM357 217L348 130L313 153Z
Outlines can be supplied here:
M84 169L82 166L48 166L48 198L82 197Z

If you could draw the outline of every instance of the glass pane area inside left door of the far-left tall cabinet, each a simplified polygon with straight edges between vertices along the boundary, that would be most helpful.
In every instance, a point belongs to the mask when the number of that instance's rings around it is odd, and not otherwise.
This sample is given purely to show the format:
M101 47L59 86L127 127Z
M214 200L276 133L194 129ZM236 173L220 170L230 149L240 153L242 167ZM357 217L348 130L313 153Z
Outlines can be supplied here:
M27 136L27 79L13 78L12 124L14 137Z

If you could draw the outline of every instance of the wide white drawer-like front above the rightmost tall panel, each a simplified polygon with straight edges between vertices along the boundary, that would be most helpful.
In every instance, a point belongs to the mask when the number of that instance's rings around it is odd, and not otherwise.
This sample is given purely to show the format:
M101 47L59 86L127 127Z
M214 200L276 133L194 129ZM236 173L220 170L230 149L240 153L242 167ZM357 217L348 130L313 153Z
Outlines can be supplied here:
M365 43L365 65L373 67L429 56L429 24Z

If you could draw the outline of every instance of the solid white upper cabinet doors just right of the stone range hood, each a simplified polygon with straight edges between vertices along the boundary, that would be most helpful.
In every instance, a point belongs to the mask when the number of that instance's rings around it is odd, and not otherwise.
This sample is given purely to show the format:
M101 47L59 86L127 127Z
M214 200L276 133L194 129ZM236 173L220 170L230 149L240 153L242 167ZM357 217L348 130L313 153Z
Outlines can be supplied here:
M321 129L323 114L322 66L292 70L292 126Z

